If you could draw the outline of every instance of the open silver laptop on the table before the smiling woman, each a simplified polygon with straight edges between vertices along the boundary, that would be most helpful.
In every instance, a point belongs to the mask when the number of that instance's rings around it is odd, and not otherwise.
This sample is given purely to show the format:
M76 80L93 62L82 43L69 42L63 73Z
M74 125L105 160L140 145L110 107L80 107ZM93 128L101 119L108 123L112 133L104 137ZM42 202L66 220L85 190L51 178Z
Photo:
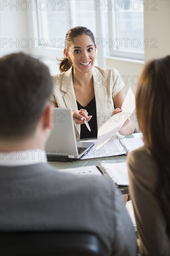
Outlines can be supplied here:
M80 160L94 143L76 141L71 108L53 108L51 116L54 127L46 143L48 161Z

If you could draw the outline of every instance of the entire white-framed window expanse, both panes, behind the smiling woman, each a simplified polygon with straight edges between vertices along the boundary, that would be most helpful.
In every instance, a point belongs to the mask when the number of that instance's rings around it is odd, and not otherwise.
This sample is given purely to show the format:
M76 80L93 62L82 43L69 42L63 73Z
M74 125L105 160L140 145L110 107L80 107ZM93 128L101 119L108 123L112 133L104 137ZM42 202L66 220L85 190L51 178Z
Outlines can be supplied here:
M96 39L95 65L104 67L105 55L144 59L143 0L37 0L35 25L38 47L55 50L58 58L63 56L65 33L85 26Z

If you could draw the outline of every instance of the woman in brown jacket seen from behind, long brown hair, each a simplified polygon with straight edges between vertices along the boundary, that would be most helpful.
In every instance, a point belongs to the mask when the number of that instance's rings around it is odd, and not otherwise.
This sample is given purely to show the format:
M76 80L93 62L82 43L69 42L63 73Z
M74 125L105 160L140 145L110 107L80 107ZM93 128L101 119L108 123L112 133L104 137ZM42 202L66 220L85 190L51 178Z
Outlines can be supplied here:
M136 93L144 146L128 155L142 256L170 255L170 55L151 61Z

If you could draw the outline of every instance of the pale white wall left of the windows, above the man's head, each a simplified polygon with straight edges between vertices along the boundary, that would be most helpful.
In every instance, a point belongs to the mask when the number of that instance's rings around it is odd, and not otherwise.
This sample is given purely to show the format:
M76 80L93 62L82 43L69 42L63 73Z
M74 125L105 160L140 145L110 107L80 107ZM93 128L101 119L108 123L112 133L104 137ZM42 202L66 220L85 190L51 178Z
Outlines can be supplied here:
M26 41L23 40L28 39L27 11L21 10L20 1L0 1L0 37L0 56L19 51L29 53L29 47L25 47Z

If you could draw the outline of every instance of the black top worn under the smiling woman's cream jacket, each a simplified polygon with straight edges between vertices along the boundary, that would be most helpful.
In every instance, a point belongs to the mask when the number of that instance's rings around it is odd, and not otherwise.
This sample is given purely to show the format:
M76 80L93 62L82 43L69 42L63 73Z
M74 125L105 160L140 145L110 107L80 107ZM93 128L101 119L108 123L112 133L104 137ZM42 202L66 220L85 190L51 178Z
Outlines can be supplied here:
M96 117L96 100L95 96L92 99L92 101L89 102L89 104L85 107L81 106L78 101L77 102L77 107L78 110L81 108L84 108L87 110L88 115L92 115L91 120L88 122L89 126L91 128L91 132L88 130L85 124L82 124L81 130L80 130L80 139L85 139L85 138L96 138L98 136L98 128L97 128L97 117Z

